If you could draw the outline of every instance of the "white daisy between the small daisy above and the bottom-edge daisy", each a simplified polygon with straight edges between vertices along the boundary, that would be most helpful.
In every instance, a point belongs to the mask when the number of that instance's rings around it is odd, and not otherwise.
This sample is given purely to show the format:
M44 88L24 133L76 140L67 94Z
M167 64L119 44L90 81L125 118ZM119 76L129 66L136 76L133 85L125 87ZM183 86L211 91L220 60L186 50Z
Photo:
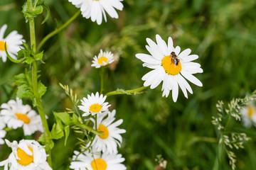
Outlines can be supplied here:
M96 135L92 142L92 146L95 147L97 152L117 153L117 145L121 147L122 136L120 134L126 132L126 130L117 128L123 120L120 119L114 122L115 114L115 110L112 112L106 111L97 117L97 131L102 132L102 135ZM107 118L105 118L106 116ZM95 123L94 119L91 120Z

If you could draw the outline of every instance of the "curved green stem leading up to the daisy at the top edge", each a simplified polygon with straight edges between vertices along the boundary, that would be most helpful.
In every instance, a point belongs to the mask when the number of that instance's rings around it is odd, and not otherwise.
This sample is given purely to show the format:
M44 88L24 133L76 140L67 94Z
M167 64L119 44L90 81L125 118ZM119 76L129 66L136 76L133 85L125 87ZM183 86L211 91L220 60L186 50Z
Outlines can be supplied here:
M53 32L49 33L48 35L46 35L45 38L43 38L43 40L41 40L41 42L39 43L38 47L37 47L37 52L41 49L41 47L43 46L44 43L46 43L46 41L48 39L50 39L51 37L53 37L53 35L59 33L61 30L63 30L64 28L66 28L70 23L72 23L75 18L77 18L80 15L81 11L79 10L78 12L76 12L74 14L74 16L72 16L67 22L65 22L63 24L63 26L61 26L60 28L57 28L56 30L53 30Z

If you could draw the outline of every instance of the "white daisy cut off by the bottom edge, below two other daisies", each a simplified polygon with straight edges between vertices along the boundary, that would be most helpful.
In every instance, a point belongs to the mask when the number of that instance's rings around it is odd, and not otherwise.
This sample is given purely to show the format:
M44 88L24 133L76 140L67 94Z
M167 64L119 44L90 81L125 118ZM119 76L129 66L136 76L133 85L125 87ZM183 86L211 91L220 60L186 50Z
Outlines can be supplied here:
M125 170L122 154L109 154L100 152L89 152L88 150L78 156L78 151L74 152L73 162L71 162L70 169L75 170Z

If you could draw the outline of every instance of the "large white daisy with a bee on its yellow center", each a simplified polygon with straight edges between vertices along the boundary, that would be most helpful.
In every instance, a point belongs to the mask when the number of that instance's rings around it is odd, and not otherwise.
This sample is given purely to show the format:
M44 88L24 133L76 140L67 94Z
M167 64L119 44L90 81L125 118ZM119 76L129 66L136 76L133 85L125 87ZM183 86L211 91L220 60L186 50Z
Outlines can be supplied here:
M193 76L193 74L203 72L200 64L191 62L198 59L198 55L189 55L191 53L190 49L181 52L181 47L177 46L174 48L174 42L171 37L168 39L168 45L166 45L166 42L159 35L156 35L157 44L149 38L146 38L146 42L149 44L146 45L146 50L151 55L136 55L139 60L144 62L144 67L153 69L142 77L142 80L145 81L144 86L150 86L150 89L154 89L163 81L161 89L163 91L163 97L169 96L172 90L174 102L178 98L178 86L180 86L186 98L188 98L186 90L193 94L191 86L186 79L197 86L203 86L201 81Z

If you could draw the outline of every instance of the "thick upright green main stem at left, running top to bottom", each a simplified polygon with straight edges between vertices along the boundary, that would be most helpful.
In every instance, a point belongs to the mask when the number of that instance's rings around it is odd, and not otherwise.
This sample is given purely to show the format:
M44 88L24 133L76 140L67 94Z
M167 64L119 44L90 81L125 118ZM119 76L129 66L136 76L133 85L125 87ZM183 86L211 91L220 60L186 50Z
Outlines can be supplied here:
M33 3L32 0L27 0L28 2L28 10L33 11ZM36 31L35 31L35 21L34 18L29 18L29 28L30 28L30 35L31 35L31 49L33 51L33 55L36 55ZM48 128L48 123L46 120L46 114L43 111L43 106L41 104L41 100L38 94L38 75L37 75L37 64L36 60L33 61L32 64L32 79L33 79L33 94L36 98L36 106L38 108L38 112L40 114L42 123L43 123L43 130L46 134L46 145L50 144L50 131ZM46 154L49 156L47 157L48 164L51 166L51 154L50 154L50 147L47 147Z

